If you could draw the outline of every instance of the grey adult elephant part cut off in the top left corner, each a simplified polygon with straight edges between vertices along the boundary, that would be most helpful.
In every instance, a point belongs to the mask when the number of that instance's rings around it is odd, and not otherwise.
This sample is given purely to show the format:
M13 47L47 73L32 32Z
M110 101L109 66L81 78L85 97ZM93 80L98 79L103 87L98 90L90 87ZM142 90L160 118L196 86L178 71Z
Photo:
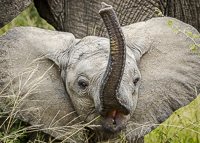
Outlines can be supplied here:
M19 15L33 0L1 0L0 28Z

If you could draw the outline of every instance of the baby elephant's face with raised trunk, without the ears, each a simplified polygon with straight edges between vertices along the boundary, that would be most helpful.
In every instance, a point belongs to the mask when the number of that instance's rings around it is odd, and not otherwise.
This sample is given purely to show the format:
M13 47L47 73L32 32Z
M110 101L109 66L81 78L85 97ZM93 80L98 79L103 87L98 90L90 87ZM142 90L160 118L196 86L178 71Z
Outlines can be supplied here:
M106 38L93 36L80 40L70 51L62 75L81 119L89 122L101 115L104 128L116 132L136 108L140 72L132 52L128 49L126 54L124 35L112 6L103 3L100 15L110 44Z

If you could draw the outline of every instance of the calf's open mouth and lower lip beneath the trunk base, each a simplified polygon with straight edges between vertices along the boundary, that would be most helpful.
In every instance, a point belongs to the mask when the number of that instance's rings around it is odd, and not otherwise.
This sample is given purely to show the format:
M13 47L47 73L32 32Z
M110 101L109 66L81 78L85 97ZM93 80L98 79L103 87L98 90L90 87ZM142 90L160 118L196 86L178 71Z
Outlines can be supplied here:
M115 133L122 130L129 119L130 114L123 115L119 111L114 110L108 112L104 116L101 116L101 123L106 130Z

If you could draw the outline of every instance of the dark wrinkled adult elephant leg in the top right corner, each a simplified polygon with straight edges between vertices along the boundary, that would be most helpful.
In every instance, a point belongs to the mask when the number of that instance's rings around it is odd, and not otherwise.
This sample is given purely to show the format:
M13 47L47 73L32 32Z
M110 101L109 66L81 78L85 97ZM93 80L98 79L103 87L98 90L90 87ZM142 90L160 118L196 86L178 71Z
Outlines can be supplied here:
M160 0L159 8L164 15L175 17L200 31L199 0Z

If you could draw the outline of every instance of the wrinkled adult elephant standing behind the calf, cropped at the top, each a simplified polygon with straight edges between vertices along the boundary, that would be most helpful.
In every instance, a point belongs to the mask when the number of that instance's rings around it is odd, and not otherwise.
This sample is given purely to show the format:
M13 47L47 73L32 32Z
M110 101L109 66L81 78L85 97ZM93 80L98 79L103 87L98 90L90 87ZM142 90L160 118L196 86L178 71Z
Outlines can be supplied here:
M32 1L1 1L0 28L16 17ZM73 33L77 38L107 34L104 23L96 12L101 8L101 2L102 0L34 0L41 17L57 30ZM199 0L104 0L104 2L114 7L121 26L156 17L154 7L158 7L164 15L175 17L200 31Z

